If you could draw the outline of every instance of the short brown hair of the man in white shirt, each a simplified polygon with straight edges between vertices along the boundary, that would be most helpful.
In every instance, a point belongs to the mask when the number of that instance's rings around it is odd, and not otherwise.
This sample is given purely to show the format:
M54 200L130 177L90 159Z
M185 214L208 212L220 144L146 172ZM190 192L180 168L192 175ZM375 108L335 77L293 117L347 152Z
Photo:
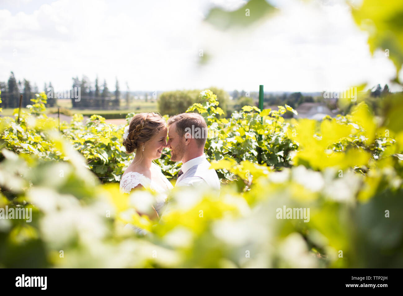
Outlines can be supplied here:
M192 138L196 140L197 146L204 147L207 140L207 124L203 116L198 113L182 113L171 116L168 119L168 126L176 123L176 131L180 137L185 136L187 131L191 131ZM200 136L198 136L200 135Z

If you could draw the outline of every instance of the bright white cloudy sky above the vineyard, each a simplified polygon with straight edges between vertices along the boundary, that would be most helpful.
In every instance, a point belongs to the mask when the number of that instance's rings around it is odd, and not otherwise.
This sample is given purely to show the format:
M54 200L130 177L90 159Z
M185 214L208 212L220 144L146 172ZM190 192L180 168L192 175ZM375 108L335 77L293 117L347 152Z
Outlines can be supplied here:
M338 0L271 0L281 12L237 34L203 22L214 5L246 1L0 0L0 81L52 82L98 75L114 90L222 87L227 91L337 91L395 73ZM253 11L251 11L253 13ZM199 50L211 56L199 66ZM402 75L400 75L402 76ZM400 90L391 85L392 90Z

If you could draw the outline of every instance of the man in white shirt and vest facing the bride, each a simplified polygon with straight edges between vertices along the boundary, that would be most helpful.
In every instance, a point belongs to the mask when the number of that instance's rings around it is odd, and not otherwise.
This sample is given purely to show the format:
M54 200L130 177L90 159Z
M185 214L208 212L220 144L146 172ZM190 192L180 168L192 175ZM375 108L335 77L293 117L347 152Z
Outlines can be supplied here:
M220 190L217 173L204 154L207 124L197 113L182 113L168 119L171 160L182 161L175 186L210 186Z

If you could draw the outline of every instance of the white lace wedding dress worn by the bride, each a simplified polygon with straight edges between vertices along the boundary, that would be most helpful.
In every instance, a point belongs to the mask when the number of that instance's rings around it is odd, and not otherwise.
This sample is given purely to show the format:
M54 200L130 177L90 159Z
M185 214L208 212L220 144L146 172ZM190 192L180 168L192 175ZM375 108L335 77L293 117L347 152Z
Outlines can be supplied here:
M158 195L156 196L156 203L154 204L154 208L156 209L158 216L161 216L161 210L164 205L166 205L166 199L168 197L168 191L170 191L174 186L168 181L168 179L162 174L161 168L152 163L152 167L158 172L160 178L166 184L166 187L160 186L155 180L151 180L140 174L138 172L128 172L122 176L120 180L120 192L121 193L130 193L131 190L136 187L137 185L141 184L144 187L151 188L152 190L156 191ZM126 224L125 228L131 228L137 233L145 234L146 230L138 228L133 224Z

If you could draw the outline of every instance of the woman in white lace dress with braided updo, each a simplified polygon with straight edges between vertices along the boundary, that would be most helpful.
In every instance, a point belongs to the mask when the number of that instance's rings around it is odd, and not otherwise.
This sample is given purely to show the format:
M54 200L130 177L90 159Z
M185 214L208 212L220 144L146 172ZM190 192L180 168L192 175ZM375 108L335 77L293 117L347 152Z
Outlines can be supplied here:
M153 206L154 214L150 215L151 219L159 218L166 204L167 193L173 188L162 174L161 168L152 162L161 157L162 149L166 147L167 135L168 128L164 118L154 112L136 114L126 126L123 135L126 153L135 151L135 157L122 175L120 192L130 193L133 188L141 187L155 190L158 197ZM131 224L127 224L125 228L132 228L138 233L145 232Z

